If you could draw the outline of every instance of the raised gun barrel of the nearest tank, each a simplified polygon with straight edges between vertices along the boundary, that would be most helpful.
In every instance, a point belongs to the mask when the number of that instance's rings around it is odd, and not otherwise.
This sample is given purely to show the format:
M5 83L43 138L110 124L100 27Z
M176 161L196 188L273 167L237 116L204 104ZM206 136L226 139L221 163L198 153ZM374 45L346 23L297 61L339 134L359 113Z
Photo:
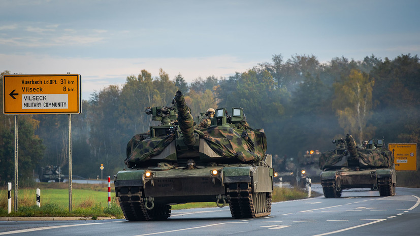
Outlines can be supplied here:
M185 104L184 94L180 90L175 93L176 108L178 110L178 125L184 136L184 143L188 147L196 143L194 138L194 121L189 112L188 106Z

